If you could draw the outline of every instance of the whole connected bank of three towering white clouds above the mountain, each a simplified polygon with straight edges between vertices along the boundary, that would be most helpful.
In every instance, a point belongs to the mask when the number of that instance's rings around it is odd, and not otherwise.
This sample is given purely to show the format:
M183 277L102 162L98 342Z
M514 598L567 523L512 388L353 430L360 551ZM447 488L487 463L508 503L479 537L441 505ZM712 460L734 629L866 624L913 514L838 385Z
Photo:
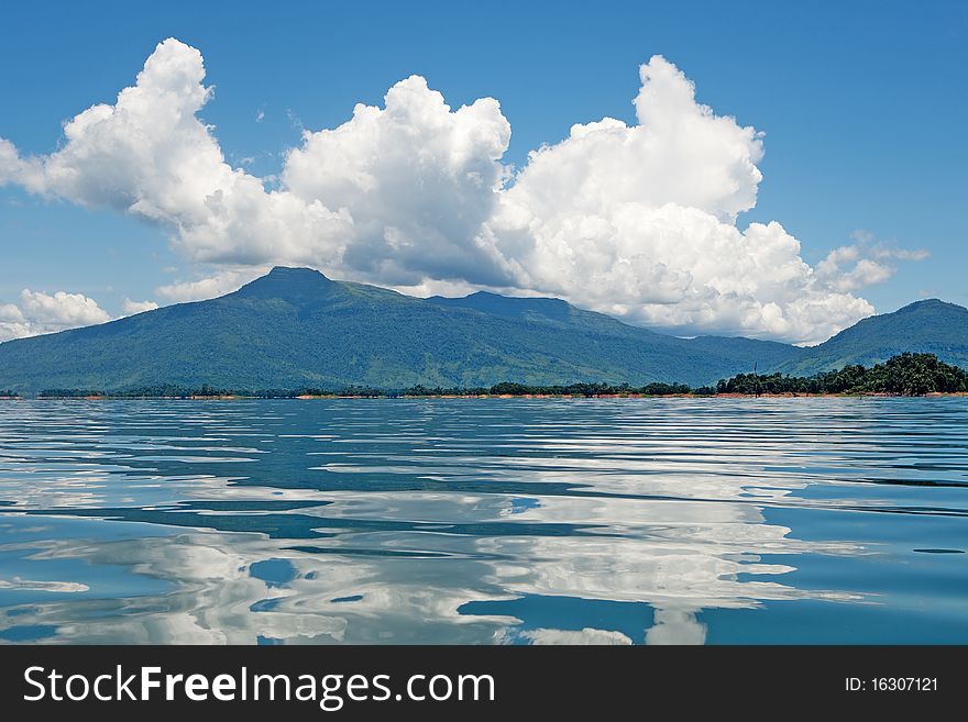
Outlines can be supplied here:
M161 43L113 105L65 124L58 151L22 157L0 140L0 182L172 229L176 251L216 270L157 289L170 300L304 264L397 288L554 295L682 333L814 342L872 313L853 292L903 258L813 268L780 223L741 227L762 134L698 102L661 56L640 68L636 123L576 124L517 173L502 163L510 125L496 100L453 109L410 76L383 107L304 131L280 173L257 178L227 163L200 120L204 79L197 49Z

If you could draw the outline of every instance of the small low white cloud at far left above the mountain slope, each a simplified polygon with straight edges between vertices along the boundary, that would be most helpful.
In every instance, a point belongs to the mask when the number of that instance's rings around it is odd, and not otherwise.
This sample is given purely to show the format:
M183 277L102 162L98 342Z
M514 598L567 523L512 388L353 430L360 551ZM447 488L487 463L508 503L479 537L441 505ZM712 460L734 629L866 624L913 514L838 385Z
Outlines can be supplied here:
M0 341L54 333L110 321L95 301L82 293L53 295L23 289L20 304L0 304Z

